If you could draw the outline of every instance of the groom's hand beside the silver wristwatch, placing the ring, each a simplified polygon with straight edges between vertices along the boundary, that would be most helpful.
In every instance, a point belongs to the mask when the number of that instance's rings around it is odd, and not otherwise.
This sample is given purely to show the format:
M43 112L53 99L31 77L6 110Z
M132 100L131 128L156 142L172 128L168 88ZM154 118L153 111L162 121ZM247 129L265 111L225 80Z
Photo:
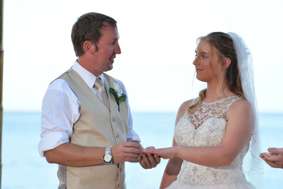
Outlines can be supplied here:
M121 142L111 148L114 163L125 161L139 161L143 154L143 148L135 142Z

